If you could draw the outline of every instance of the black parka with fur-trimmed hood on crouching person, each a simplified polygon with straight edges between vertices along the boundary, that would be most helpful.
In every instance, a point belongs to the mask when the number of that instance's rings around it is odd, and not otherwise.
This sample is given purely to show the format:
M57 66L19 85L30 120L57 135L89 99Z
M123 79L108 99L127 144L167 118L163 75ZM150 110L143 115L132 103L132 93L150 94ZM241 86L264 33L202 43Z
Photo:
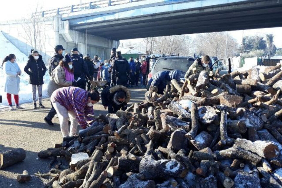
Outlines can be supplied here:
M126 99L123 103L127 104L131 97L130 91L123 85L116 85L113 87L107 87L102 91L101 97L102 97L103 106L108 106L109 104L112 103L116 103L116 105L121 105L121 103L119 103L117 99L115 99L115 94L118 91L123 91L125 93Z

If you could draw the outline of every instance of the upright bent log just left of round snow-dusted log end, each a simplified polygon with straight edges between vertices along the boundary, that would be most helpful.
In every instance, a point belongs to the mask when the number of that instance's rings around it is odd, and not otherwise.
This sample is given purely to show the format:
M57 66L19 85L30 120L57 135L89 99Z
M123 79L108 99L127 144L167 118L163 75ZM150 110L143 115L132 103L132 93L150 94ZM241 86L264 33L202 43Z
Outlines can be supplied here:
M199 114L197 104L191 105L191 130L185 135L189 140L193 140L199 128Z

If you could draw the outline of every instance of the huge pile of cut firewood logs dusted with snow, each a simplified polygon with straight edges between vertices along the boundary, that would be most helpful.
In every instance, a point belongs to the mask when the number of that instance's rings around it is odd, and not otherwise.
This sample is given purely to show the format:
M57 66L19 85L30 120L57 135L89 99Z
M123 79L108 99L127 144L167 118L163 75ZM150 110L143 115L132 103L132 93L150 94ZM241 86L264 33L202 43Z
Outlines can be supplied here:
M37 175L54 188L282 187L280 68L151 86L143 103L39 152L54 168ZM79 152L89 158L69 166Z

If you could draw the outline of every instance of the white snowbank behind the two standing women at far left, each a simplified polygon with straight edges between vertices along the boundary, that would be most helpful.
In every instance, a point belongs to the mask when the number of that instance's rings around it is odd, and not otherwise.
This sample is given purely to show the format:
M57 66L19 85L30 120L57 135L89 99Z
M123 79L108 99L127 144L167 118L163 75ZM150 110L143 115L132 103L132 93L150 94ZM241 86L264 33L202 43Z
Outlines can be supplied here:
M20 50L15 47L9 40L6 39L6 37L0 32L0 95L2 95L3 103L0 103L0 109L4 108L5 106L8 106L6 93L4 92L5 87L5 73L2 69L2 61L3 59L9 55L10 53L15 54L17 58L17 63L22 71L22 75L20 76L20 93L19 93L19 101L21 103L27 103L32 102L32 89L31 84L28 83L29 76L23 71L23 68L26 65L26 62L28 60L28 57L20 52ZM49 74L48 71L46 71L44 79L44 85L42 89L42 97L48 97L47 96L47 85L49 82ZM15 105L15 101L12 96L12 103Z

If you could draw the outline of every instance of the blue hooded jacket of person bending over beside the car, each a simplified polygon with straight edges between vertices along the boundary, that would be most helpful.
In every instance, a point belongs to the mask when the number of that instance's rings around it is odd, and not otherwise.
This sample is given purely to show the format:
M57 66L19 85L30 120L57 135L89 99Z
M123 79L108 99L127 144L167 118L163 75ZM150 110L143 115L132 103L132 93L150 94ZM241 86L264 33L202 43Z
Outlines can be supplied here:
M148 88L150 85L158 87L158 93L162 94L167 84L172 80L176 79L180 81L181 71L159 71L148 81Z

